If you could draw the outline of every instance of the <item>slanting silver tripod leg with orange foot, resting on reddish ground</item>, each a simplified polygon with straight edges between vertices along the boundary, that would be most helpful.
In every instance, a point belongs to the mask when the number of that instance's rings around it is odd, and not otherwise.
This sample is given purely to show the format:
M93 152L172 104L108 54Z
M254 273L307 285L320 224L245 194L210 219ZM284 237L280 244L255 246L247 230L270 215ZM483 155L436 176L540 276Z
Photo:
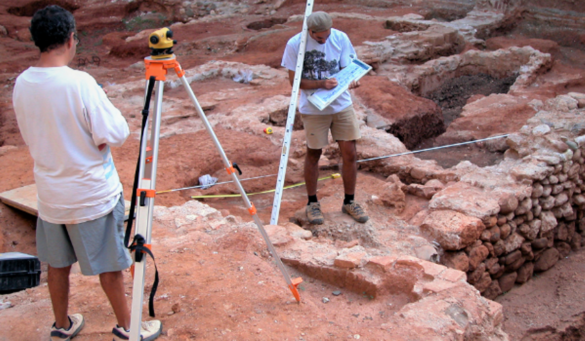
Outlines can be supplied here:
M270 238L269 238L268 234L266 233L266 230L264 229L262 222L260 221L260 218L256 214L256 208L252 205L252 203L250 203L250 200L248 199L246 191L244 190L244 188L242 187L242 184L240 183L240 180L238 179L238 175L236 175L236 172L233 171L232 164L229 162L227 156L225 155L225 152L223 151L221 144L219 144L219 140L216 137L215 132L214 132L213 128L211 127L211 124L209 124L207 117L205 117L205 113L203 112L203 109L201 109L201 105L199 105L197 98L195 98L195 94L193 93L191 86L189 86L189 83L187 82L185 75L180 76L180 79L181 79L181 82L183 83L185 90L188 92L189 97L191 98L191 102L193 102L195 109L197 109L197 113L199 114L199 117L201 118L201 120L204 123L205 129L207 129L207 132L209 133L209 135L211 135L211 138L213 139L214 144L215 144L215 148L218 150L219 155L221 155L221 158L223 160L223 165L225 165L225 168L228 169L228 172L232 175L233 182L238 186L238 190L240 191L240 194L242 194L242 199L244 200L244 203L246 204L248 211L250 212L250 214L252 214L252 217L254 218L254 222L256 222L256 225L257 225L258 229L260 230L260 234L262 235L262 238L264 238L264 242L266 242L266 245L268 246L270 253L272 254L274 260L276 260L276 263L278 265L278 268L280 269L280 272L283 273L284 279L288 284L288 288L290 288L290 290L292 291L292 294L294 295L297 302L300 302L301 299L300 299L298 291L297 291L297 286L298 286L298 284L301 283L302 279L300 279L300 277L299 277L298 279L295 279L294 281L291 280L290 276L288 275L287 270L285 269L285 267L283 265L283 262L280 260L280 257L278 257L278 254L276 253L276 249L274 249L272 242L270 242Z

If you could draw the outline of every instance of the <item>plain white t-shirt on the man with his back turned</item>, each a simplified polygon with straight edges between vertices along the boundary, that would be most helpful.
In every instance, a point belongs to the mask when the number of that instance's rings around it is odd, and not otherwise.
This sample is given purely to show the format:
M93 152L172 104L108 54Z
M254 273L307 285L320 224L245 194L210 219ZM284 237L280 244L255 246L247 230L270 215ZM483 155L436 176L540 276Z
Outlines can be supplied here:
M12 103L35 161L39 217L78 224L111 212L122 184L109 146L120 147L129 129L95 79L69 67L30 67L16 79Z

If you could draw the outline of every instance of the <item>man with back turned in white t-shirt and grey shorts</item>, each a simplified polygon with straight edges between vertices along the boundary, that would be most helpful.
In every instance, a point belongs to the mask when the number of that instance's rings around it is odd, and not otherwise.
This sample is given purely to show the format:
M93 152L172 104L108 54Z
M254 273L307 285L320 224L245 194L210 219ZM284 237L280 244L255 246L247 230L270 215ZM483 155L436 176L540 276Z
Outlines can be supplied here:
M124 239L122 184L110 147L129 135L121 112L86 72L67 67L79 43L75 19L52 5L31 20L37 64L16 79L12 102L23 139L35 161L36 241L49 264L47 284L55 322L51 340L70 340L84 326L68 314L71 265L98 275L117 324L113 339L128 340L130 310L123 273L132 264ZM161 333L160 321L143 322L143 340Z

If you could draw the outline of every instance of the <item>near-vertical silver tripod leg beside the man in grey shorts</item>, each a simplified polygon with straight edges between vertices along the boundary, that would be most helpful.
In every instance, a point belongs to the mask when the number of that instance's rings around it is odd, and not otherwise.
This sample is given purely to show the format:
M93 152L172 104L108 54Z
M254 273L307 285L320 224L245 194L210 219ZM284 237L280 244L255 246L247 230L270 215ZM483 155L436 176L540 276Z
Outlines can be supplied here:
M148 144L148 127L143 130L142 144L140 145L139 189L136 196L136 235L143 236L147 245L150 245L152 233L152 217L154 208L154 189L156 188L156 168L159 151L159 134L161 120L161 105L163 100L163 81L156 81L155 103L153 107L152 128L150 129L151 148ZM140 193L144 193L143 196ZM136 251L138 252L138 251ZM136 256L136 255L135 255ZM142 256L142 255L141 255ZM132 311L130 315L130 340L140 340L142 326L142 305L144 297L144 273L146 272L146 257L140 257L134 264L134 283L132 287Z

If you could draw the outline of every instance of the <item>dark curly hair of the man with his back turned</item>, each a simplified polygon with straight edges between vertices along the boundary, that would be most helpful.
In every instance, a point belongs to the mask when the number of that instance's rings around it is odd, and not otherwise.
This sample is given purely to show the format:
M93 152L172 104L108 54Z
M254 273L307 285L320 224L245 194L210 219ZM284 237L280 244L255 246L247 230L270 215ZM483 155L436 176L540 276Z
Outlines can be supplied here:
M41 52L65 44L75 32L75 18L66 9L50 5L35 12L30 20L30 34Z

